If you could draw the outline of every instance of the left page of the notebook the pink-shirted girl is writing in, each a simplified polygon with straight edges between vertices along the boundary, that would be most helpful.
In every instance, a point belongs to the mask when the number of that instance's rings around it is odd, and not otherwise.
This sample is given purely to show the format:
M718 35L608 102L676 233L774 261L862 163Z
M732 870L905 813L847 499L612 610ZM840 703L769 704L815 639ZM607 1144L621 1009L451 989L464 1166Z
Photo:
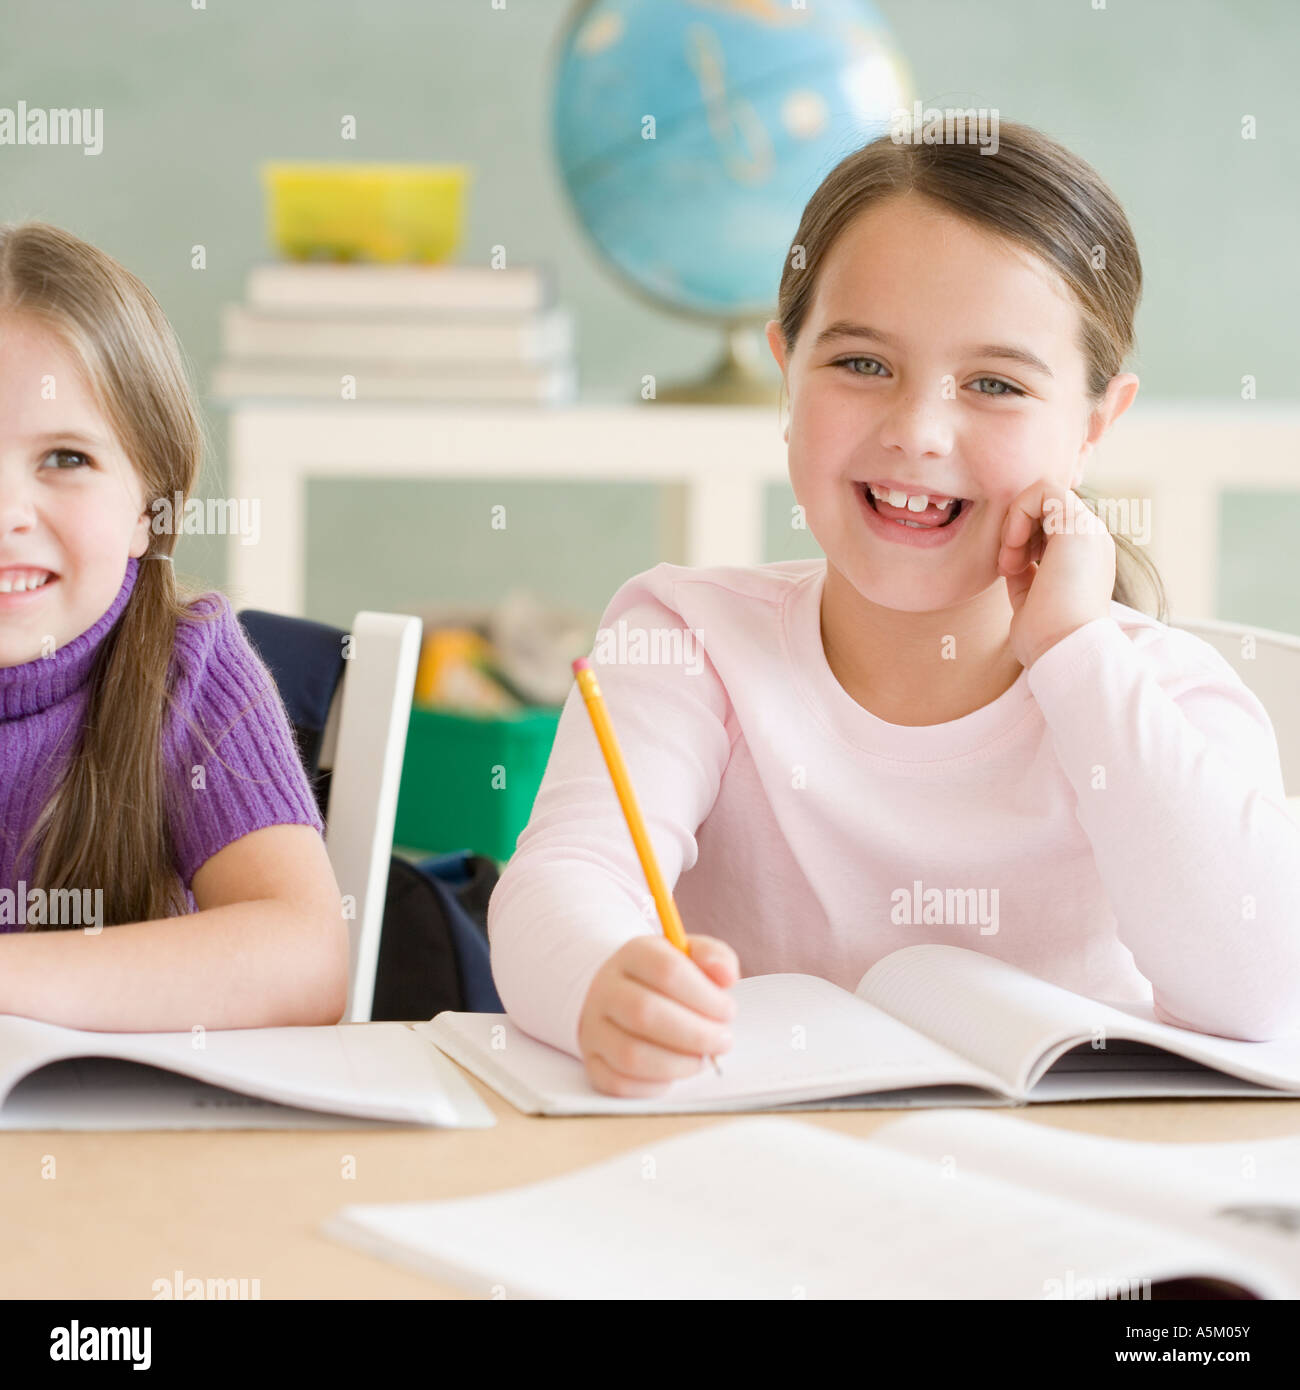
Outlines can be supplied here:
M929 1084L983 1086L993 1080L818 976L752 976L738 980L731 992L737 1004L730 1024L736 1042L719 1055L723 1074L717 1076L706 1062L695 1076L648 1099L601 1094L577 1058L538 1042L499 1013L439 1013L432 1023L417 1024L417 1031L439 1044L455 1033L469 1044L467 1051L453 1052L457 1061L516 1105L526 1101L509 1080L521 1080L553 1113L716 1111L727 1102L815 1099Z

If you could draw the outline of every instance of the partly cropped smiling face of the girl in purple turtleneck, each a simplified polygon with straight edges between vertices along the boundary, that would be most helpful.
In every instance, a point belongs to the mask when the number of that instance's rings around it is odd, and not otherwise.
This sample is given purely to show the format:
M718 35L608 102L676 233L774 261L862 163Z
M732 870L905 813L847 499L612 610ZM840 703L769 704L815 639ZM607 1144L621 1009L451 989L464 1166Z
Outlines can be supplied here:
M0 317L0 667L65 646L108 610L128 556L149 548L140 480L100 416L79 361L44 325Z

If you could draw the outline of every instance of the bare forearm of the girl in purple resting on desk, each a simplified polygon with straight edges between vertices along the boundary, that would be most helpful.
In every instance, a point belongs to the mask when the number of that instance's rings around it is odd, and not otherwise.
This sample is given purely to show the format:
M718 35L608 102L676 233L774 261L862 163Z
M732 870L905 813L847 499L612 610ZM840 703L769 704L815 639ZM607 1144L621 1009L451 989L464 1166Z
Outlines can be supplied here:
M0 1013L108 1033L338 1023L343 922L277 898L100 931L0 933Z

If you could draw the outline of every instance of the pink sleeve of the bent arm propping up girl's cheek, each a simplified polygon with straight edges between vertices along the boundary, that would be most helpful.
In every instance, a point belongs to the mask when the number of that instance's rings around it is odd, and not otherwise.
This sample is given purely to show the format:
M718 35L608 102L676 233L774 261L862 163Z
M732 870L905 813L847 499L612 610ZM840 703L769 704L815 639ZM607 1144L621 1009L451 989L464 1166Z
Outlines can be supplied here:
M1175 699L1104 623L1029 673L1157 1017L1264 1041L1300 1019L1300 828L1262 706L1229 676L1192 680Z

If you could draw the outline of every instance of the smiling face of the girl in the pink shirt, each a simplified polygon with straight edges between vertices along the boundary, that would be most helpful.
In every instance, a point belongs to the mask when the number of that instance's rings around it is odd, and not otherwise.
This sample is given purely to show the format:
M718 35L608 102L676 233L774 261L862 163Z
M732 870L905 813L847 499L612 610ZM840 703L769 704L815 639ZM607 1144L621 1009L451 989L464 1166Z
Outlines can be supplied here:
M891 197L844 229L788 360L776 320L767 341L795 498L862 598L911 612L973 598L1000 582L1009 503L1037 478L1079 485L1137 381L1112 378L1094 413L1079 331L1054 271L929 199ZM965 499L959 530L939 546L886 539L859 496L881 480Z

